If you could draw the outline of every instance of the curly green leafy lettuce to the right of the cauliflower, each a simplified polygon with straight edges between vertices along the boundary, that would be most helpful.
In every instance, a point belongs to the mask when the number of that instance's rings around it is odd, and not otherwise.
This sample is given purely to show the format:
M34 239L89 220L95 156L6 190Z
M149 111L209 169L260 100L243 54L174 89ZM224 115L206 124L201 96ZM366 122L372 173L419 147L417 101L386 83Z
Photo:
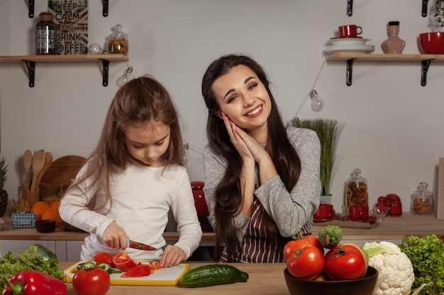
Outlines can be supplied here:
M412 291L429 284L421 295L444 295L444 243L435 235L409 236L398 245L414 267Z

